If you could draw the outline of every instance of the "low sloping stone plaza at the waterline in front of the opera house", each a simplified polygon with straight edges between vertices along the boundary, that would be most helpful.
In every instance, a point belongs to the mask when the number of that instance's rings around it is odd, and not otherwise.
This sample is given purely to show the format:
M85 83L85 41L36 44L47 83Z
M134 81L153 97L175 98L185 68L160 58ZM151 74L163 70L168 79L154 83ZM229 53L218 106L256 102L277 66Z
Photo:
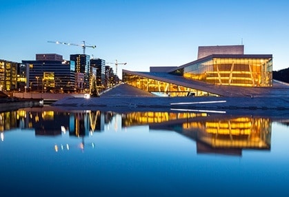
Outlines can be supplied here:
M63 98L55 103L63 110L101 110L114 112L214 110L240 114L242 112L289 116L289 97L156 97L130 85L121 84L97 98Z

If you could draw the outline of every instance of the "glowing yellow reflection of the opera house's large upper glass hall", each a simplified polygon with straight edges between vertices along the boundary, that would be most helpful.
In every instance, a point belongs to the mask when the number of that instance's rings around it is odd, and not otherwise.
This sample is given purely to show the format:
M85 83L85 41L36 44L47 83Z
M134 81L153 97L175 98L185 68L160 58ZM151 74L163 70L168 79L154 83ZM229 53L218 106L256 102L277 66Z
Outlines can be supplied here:
M183 123L183 129L196 131L198 140L212 147L270 147L271 122L268 118L191 121Z

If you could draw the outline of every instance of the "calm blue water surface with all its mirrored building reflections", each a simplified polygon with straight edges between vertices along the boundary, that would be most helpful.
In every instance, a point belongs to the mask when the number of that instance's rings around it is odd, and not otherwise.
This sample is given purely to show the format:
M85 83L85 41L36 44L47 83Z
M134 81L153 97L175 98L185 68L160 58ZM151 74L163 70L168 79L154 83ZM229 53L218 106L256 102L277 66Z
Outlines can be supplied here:
M0 113L1 196L289 196L289 117Z

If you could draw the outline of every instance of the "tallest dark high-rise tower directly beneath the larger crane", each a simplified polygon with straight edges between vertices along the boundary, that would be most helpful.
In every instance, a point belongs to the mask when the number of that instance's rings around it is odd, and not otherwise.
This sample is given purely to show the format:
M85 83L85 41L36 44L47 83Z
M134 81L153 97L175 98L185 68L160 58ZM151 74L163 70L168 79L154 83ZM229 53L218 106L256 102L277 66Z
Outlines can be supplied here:
M83 73L83 88L89 90L90 56L87 54L70 54L70 61L75 63L75 73Z

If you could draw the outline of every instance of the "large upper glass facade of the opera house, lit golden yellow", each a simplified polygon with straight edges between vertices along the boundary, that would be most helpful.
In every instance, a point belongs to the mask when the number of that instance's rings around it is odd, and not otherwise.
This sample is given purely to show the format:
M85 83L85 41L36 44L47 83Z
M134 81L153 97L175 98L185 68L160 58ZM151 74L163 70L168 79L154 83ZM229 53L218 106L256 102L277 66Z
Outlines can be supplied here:
M196 62L183 68L183 76L187 79L216 85L272 86L272 57L212 57Z

